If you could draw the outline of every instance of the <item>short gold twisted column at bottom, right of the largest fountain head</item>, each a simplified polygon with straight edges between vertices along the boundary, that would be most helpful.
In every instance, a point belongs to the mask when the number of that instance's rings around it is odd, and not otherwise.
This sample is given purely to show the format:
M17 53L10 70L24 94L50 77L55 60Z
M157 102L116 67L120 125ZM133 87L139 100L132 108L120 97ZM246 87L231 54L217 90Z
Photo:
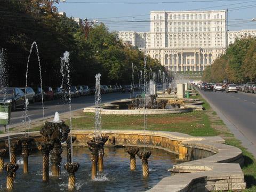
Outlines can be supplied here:
M75 172L79 168L79 163L66 163L64 165L65 170L69 173L68 175L68 190L75 189L76 186L76 178L75 178Z

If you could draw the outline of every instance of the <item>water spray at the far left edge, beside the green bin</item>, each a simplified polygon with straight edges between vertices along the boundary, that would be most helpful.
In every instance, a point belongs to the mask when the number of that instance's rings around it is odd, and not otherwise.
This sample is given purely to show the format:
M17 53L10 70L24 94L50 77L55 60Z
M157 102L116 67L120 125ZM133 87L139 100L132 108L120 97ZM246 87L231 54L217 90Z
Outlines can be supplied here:
M0 87L3 87L4 91L4 98L5 100L6 91L5 88L8 86L7 81L7 71L6 71L6 59L5 59L5 53L4 49L0 49ZM10 133L9 133L9 124L7 124L7 135L8 135L8 146L9 146L9 155L10 155L10 161L11 161L11 141L10 141Z

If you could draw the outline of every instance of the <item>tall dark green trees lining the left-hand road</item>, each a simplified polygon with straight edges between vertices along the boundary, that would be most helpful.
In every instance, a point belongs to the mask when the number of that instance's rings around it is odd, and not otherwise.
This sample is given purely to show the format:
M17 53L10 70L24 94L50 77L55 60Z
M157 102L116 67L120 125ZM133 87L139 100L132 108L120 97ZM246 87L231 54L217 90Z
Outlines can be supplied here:
M5 51L11 86L24 86L31 43L37 42L43 84L58 86L61 81L60 57L70 52L71 83L94 84L101 73L103 84L130 84L132 63L143 70L144 54L137 47L124 45L103 24L93 26L86 39L84 30L71 18L53 12L45 0L1 0L0 49ZM164 70L157 60L147 58L147 68ZM30 84L39 84L37 53L29 62ZM134 77L138 82L137 77Z

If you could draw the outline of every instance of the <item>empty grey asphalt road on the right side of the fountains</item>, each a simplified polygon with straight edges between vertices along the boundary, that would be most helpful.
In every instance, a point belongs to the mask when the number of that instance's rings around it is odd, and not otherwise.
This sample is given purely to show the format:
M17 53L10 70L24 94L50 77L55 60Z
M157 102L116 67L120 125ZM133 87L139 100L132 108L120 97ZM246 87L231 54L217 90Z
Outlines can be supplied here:
M200 91L256 147L256 94Z

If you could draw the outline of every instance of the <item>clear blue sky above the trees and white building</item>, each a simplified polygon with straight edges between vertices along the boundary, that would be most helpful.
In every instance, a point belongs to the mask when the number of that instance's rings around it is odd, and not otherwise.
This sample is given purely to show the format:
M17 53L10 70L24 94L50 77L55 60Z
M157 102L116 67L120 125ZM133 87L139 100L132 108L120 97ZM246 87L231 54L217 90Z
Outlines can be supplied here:
M229 30L256 29L256 21L251 21L256 18L256 1L250 0L66 0L58 4L58 11L67 17L97 19L116 31L149 31L150 11L225 9L229 10Z

